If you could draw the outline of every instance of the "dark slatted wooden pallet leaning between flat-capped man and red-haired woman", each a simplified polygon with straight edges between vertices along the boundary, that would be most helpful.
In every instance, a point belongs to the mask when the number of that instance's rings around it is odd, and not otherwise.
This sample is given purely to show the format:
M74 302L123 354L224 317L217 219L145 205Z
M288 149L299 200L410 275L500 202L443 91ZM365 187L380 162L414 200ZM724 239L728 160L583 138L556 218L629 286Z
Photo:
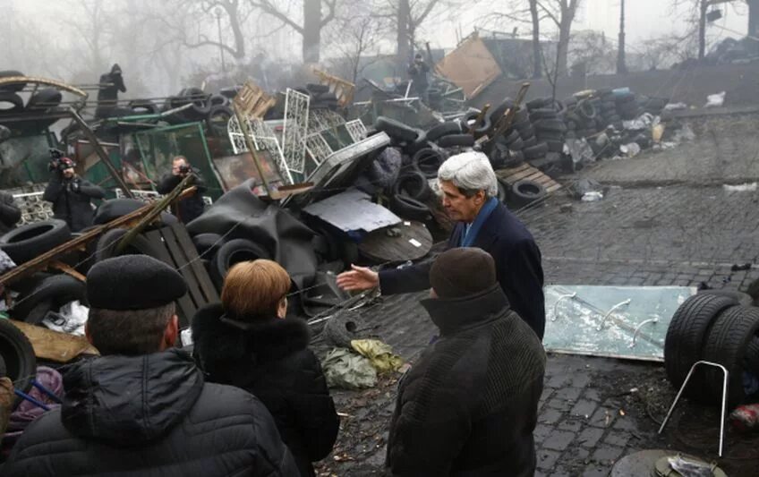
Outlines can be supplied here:
M180 326L185 328L190 325L192 317L201 306L218 302L216 286L211 282L209 273L182 224L151 230L145 236L158 251L156 258L179 270L187 282L187 294L176 301Z

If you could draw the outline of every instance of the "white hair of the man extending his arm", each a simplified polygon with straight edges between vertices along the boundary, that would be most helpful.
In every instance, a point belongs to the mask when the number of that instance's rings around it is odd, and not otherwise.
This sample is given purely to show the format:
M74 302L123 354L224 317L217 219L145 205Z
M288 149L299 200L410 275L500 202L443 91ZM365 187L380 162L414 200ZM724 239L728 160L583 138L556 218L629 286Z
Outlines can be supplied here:
M465 196L479 191L485 197L498 196L498 179L490 160L482 152L469 151L451 156L438 170L438 183L453 183Z

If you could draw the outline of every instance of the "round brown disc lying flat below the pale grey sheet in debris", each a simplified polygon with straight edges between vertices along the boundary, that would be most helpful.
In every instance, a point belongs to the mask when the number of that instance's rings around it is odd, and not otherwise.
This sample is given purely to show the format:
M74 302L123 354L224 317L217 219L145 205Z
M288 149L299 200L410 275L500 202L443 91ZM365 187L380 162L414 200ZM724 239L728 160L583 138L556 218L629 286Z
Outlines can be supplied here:
M422 222L404 221L367 234L358 250L375 263L419 260L432 248L432 234Z

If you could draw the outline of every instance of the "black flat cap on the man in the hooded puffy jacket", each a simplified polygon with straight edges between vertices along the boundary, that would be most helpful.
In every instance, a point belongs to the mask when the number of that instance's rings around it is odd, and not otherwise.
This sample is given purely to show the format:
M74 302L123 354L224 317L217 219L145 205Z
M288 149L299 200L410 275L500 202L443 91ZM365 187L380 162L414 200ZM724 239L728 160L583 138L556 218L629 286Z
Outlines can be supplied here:
M103 260L87 274L87 300L92 308L148 310L186 293L187 284L174 268L147 255Z

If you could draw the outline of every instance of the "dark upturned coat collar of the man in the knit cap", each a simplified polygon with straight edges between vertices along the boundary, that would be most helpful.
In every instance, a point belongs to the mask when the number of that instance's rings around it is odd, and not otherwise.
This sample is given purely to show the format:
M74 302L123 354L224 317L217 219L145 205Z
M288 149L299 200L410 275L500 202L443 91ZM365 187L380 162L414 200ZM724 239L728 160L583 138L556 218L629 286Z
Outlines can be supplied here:
M498 283L480 294L462 298L431 298L422 300L432 322L442 336L453 335L490 320L505 316L511 310L506 294Z

